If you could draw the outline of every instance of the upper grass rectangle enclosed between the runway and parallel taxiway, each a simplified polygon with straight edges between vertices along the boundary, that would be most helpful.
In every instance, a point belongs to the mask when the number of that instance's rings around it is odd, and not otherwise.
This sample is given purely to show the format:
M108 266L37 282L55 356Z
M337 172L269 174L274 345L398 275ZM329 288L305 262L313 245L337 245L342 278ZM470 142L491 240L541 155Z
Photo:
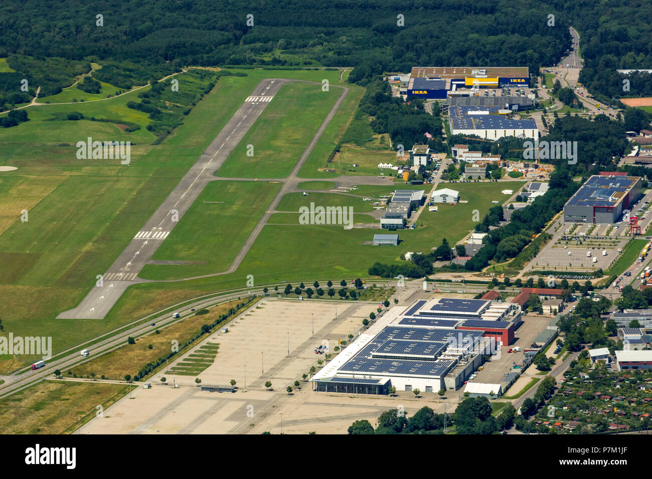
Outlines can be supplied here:
M256 123L216 173L231 178L284 178L333 107L340 89L286 84L269 102ZM253 156L247 156L253 145Z

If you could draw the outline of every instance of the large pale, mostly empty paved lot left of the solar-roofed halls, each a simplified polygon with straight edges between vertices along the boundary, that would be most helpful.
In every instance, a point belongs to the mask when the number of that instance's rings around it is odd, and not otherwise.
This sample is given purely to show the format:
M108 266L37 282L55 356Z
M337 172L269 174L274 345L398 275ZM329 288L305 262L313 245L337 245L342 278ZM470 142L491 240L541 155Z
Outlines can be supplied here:
M228 333L213 334L203 341L218 343L220 351L215 363L200 373L202 384L227 385L235 379L239 386L237 392L201 392L194 377L173 376L161 371L151 378L152 388L136 388L131 397L117 401L104 412L104 417L91 420L80 432L246 433L251 427L249 424L261 422L271 413L275 418L270 426L273 427L275 421L280 420L273 406L288 399L296 402L310 389L309 383L303 383L297 394L289 396L285 392L288 385L300 379L301 374L318 359L324 358L314 354L314 347L330 341L332 350L338 339L346 339L348 334L355 333L362 319L368 317L376 306L353 302L263 300L232 321ZM166 377L168 385L162 385L162 376ZM265 381L268 380L272 382L274 391L266 390ZM173 388L173 382L181 387ZM367 412L370 400L363 401L366 406L362 409ZM338 401L341 403L342 399ZM378 402L378 399L374 401ZM318 417L327 414L327 408L322 408ZM353 422L348 417L346 421L346 427ZM339 432L346 432L346 428Z

